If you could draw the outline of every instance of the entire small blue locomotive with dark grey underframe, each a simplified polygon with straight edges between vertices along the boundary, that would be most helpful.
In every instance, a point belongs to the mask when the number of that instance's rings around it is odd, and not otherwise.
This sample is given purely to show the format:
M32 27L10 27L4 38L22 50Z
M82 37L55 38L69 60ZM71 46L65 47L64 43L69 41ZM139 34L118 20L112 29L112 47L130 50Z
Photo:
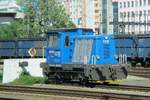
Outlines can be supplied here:
M47 32L46 62L41 63L49 81L110 82L127 77L127 65L117 64L112 35L96 35L91 29Z

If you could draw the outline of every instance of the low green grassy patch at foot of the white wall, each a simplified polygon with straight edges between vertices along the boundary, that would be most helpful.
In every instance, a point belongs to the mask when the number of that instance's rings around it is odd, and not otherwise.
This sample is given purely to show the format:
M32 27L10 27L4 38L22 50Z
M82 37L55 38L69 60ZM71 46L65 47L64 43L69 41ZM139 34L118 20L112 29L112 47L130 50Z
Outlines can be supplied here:
M14 80L10 84L13 85L33 85L33 84L44 84L46 78L43 77L33 77L30 75L21 74L18 79Z

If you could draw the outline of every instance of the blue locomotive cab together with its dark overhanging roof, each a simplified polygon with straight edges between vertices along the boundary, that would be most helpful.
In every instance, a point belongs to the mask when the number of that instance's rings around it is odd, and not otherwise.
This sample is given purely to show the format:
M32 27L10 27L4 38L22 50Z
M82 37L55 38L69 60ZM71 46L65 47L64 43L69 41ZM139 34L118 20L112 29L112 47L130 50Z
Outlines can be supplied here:
M51 30L47 33L47 64L71 64L74 37L93 35L91 29Z

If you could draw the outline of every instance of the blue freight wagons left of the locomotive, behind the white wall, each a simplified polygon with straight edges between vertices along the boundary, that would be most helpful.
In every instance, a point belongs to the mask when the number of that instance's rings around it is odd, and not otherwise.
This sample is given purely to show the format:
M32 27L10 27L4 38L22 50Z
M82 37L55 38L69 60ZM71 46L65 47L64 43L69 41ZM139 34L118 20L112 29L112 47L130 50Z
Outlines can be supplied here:
M45 39L0 40L0 58L29 58L29 50L35 49L34 57L43 57Z

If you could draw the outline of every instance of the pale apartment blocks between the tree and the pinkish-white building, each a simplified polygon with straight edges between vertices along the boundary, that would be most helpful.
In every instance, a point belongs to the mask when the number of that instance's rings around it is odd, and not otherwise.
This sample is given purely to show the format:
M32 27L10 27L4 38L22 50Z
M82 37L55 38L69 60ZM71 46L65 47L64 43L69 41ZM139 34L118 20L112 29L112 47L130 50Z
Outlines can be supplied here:
M112 33L109 26L111 0L63 0L77 27L92 28L96 33Z

